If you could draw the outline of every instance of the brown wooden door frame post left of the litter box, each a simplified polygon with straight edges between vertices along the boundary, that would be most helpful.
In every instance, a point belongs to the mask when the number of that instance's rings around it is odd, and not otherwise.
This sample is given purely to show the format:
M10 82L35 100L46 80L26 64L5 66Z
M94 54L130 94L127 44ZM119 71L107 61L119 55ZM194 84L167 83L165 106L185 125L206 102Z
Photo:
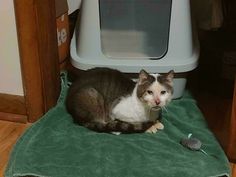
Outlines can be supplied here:
M60 92L54 0L14 0L25 106L34 122Z

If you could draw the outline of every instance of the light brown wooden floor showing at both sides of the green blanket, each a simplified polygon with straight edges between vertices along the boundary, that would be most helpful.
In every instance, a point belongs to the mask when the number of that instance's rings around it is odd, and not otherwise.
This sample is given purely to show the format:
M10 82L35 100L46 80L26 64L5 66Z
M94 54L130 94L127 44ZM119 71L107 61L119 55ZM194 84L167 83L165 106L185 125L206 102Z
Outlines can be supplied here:
M12 123L0 120L0 177L3 177L11 149L19 136L30 124ZM236 164L231 163L232 177L236 177Z

